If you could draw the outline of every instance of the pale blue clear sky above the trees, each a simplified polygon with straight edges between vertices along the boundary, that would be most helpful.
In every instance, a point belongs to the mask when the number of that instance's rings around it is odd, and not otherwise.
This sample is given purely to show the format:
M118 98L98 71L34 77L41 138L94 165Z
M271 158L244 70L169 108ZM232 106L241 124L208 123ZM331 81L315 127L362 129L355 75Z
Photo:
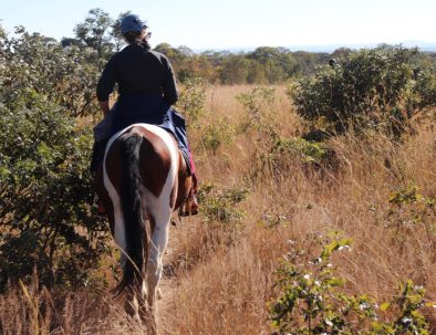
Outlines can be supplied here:
M87 12L147 20L152 44L191 49L436 42L435 0L0 0L0 24L60 40Z

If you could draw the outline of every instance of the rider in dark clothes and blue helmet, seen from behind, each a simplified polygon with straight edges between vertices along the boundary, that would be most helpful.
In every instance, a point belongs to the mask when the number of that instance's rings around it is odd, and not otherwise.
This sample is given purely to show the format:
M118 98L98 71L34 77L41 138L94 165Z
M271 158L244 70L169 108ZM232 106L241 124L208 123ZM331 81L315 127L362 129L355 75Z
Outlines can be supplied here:
M185 119L170 107L178 98L173 67L164 54L152 51L148 44L150 32L138 15L126 15L120 29L128 45L110 59L97 84L96 94L104 119L94 128L91 172L96 175L107 140L113 134L135 123L158 125L175 136L187 163L194 181L188 210L197 213L197 178ZM108 96L115 84L120 95L110 109Z

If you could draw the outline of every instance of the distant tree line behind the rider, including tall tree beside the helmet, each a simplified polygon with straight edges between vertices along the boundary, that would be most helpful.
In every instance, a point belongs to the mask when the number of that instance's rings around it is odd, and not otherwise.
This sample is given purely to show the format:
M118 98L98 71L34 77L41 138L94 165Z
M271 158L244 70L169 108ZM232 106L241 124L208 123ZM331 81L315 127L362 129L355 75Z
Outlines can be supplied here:
M123 45L123 36L118 27L122 18L128 12L112 19L101 9L92 9L84 22L79 23L74 38L64 38L63 46L76 45L91 48L101 59L107 60ZM386 44L380 49L392 48ZM351 49L341 48L333 53L292 52L279 46L259 46L250 52L232 53L229 51L194 52L186 45L173 46L159 43L155 51L162 52L172 61L180 82L193 77L203 77L215 84L276 84L293 77L313 74L316 66L328 64L332 57L351 54ZM427 62L436 63L433 54L424 55Z

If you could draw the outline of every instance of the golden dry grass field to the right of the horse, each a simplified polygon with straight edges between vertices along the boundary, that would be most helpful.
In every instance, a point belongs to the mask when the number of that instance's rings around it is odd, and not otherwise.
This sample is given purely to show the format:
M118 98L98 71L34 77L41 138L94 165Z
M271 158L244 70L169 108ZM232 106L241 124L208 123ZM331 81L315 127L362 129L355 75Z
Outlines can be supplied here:
M215 117L231 115L242 121L243 111L231 96L250 87L221 90L226 98L215 92ZM295 135L298 117L281 88L278 94L280 111L288 113L278 115L283 125L280 133ZM241 135L231 147L222 149L220 157L197 157L201 179L245 186L243 177L252 165L250 155L246 155L250 139ZM340 161L339 171L328 176L308 174L294 163L280 182L264 178L252 186L243 205L247 217L238 243L218 249L173 283L172 304L162 315L164 334L269 333L266 306L271 300L273 271L289 250L287 241L298 241L300 248L316 252L312 249L320 247L312 237L333 230L343 231L354 241L352 252L336 260L350 293L388 301L401 283L412 279L427 289L427 299L436 300L434 232L433 244L423 226L399 241L397 232L387 227L388 198L394 189L413 184L421 193L436 196L434 128L423 125L417 135L399 145L378 134L366 142L349 135L332 139L330 146ZM221 168L222 157L231 157L231 161ZM259 224L266 214L286 218L286 224L267 229ZM177 243L189 241L179 239Z

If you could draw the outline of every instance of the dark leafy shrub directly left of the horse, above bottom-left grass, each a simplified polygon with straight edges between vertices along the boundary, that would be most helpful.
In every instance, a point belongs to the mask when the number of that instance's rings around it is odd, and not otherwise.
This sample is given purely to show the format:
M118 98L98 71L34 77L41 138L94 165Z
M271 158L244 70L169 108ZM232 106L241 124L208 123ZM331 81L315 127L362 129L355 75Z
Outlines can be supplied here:
M0 291L8 281L90 284L107 251L87 174L92 135L44 95L0 95Z

